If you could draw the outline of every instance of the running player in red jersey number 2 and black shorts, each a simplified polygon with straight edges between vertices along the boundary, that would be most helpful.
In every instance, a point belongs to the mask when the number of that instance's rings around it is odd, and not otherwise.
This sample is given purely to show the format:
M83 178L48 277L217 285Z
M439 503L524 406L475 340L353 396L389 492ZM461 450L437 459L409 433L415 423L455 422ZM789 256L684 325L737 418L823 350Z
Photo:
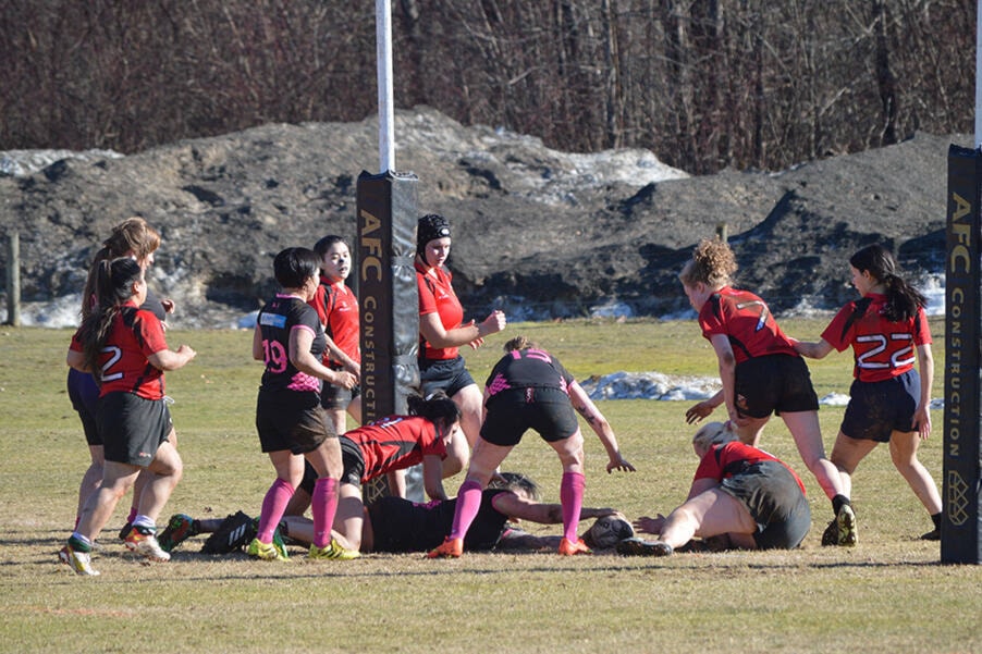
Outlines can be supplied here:
M95 576L91 550L116 503L142 470L152 473L139 493L126 547L150 560L170 555L157 543L157 517L181 479L181 455L163 395L163 372L177 370L196 353L168 348L160 320L140 309L146 301L144 268L128 257L101 261L95 271L98 305L72 337L67 363L91 372L99 384L98 429L106 462L102 481L88 496L78 523L59 553L78 575Z

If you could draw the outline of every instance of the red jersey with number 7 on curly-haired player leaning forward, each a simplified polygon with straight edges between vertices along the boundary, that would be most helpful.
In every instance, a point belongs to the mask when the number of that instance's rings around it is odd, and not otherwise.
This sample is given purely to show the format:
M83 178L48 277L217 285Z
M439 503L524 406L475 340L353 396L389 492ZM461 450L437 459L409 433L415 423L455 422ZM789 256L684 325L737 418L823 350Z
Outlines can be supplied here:
M737 363L769 355L798 356L768 305L749 291L724 286L712 294L699 312L699 326L707 340L728 336Z

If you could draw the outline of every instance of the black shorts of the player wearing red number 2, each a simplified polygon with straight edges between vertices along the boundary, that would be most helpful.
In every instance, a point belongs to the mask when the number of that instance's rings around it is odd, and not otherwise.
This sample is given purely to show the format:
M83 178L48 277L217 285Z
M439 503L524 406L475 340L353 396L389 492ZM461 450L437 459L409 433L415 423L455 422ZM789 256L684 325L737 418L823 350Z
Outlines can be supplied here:
M106 460L146 468L174 423L163 399L114 392L99 398L99 433Z

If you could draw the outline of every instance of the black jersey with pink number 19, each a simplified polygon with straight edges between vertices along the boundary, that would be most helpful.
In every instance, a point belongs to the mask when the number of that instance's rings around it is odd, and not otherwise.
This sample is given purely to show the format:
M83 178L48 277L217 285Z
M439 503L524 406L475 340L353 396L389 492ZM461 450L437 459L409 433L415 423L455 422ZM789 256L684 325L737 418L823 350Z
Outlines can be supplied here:
M297 297L277 295L259 311L257 324L262 333L262 355L266 361L262 388L320 392L320 379L300 372L290 361L290 334L293 330L310 330L314 334L310 354L318 360L323 356L327 343L317 311Z

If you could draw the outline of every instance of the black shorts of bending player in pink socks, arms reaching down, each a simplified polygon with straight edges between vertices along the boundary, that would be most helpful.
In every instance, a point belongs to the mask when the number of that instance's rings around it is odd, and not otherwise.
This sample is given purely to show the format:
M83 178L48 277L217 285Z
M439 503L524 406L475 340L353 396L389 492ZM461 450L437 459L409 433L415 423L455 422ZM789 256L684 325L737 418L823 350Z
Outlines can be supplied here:
M569 396L560 388L508 388L488 400L483 440L511 447L529 429L549 443L575 434L579 423Z

